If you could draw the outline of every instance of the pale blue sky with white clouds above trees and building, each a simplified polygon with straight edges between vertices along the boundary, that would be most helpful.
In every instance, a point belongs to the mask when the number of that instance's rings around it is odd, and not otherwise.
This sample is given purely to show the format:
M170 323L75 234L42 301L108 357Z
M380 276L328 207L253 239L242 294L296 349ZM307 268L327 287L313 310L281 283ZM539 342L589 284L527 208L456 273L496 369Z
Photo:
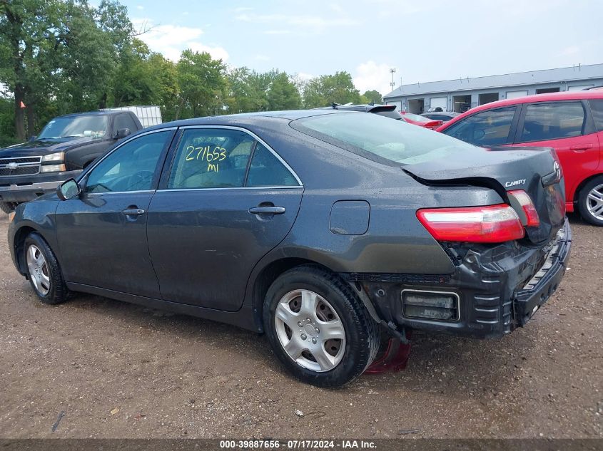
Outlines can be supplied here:
M348 71L357 88L603 63L603 1L121 0L154 51L303 78Z

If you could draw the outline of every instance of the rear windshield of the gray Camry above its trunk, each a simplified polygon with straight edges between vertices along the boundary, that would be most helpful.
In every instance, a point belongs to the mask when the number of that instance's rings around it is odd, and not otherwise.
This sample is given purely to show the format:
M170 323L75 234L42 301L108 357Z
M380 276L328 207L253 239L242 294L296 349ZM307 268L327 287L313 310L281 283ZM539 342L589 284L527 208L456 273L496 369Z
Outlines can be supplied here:
M294 120L291 127L388 165L415 165L475 148L434 130L375 114L325 114Z

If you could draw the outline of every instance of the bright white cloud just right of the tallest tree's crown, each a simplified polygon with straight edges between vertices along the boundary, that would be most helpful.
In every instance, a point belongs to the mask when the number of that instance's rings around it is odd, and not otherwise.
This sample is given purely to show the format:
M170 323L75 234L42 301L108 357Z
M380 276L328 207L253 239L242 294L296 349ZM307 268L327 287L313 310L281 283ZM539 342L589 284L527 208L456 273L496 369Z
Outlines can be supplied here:
M144 30L146 33L138 36L146 42L152 51L163 53L168 59L178 61L183 50L191 48L193 51L207 52L212 58L222 61L228 60L228 52L221 46L208 46L199 41L203 35L202 28L176 25L153 25L149 19L132 19L134 28Z

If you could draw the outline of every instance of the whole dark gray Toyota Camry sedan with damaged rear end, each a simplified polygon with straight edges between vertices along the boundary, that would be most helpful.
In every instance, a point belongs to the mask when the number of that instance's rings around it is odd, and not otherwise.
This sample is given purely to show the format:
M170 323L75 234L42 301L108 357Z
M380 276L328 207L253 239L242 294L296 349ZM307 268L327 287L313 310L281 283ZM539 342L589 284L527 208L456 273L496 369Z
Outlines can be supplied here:
M524 326L569 256L554 151L485 149L338 110L166 123L21 204L14 264L86 292L265 333L298 378L350 382L380 336Z

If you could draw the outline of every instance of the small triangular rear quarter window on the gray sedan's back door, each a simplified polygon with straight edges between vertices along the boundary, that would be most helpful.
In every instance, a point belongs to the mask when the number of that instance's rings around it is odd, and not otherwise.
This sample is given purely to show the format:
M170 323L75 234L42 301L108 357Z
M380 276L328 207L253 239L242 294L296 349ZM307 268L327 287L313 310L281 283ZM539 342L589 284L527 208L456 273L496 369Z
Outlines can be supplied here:
M255 146L247 187L295 187L298 186L293 174L275 155L260 142Z

